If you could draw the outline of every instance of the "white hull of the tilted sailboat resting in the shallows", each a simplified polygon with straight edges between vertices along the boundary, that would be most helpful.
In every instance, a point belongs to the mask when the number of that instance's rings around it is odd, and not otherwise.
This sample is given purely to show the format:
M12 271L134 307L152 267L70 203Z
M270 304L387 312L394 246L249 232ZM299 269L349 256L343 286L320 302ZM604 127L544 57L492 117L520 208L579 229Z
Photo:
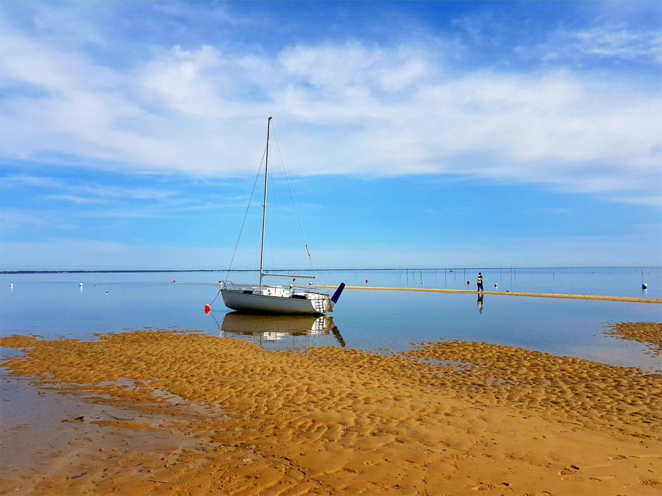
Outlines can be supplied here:
M333 311L328 295L316 294L316 298L293 298L231 289L223 289L221 294L226 307L244 312L323 314Z

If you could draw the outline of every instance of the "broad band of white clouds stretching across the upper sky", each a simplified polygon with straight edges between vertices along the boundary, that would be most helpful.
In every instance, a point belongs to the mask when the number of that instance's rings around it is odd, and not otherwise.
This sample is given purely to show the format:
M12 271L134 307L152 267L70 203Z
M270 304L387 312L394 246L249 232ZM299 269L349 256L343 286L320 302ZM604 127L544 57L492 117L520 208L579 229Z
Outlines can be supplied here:
M662 181L662 96L622 79L449 68L443 43L299 43L273 57L199 44L111 67L5 24L4 160L253 173L273 115L292 175L473 174L649 193ZM651 33L557 37L582 53L658 57Z

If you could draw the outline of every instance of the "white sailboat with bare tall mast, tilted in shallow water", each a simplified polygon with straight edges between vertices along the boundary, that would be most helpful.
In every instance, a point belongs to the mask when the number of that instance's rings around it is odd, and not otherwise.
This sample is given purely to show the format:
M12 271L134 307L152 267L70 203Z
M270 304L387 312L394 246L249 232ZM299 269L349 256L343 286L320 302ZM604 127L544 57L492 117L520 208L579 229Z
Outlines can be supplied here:
M290 277L264 272L264 233L267 216L267 184L269 174L269 137L271 134L271 117L267 121L267 148L264 167L264 202L262 205L262 246L260 256L260 284L237 284L231 281L220 281L220 293L223 303L232 310L242 312L277 313L277 314L324 314L332 312L344 283L329 295L316 288L294 288L294 285L275 286L263 284L265 276ZM306 249L308 246L306 245ZM310 253L310 252L308 252Z

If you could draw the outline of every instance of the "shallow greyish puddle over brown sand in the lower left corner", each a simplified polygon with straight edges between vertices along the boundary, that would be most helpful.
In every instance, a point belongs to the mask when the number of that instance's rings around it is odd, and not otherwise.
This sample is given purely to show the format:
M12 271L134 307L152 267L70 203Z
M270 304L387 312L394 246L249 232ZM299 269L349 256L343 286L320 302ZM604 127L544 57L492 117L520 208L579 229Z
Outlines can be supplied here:
M0 369L3 494L31 494L51 475L82 477L85 469L81 467L94 457L112 459L136 449L158 452L201 445L200 440L177 429L164 429L163 424L187 416L199 419L209 413L204 405L189 405L177 397L165 405L132 404L125 409L116 406L119 402L114 398L91 398L72 388L32 386L32 381ZM175 400L181 401L175 405ZM168 435L163 435L164 430Z

